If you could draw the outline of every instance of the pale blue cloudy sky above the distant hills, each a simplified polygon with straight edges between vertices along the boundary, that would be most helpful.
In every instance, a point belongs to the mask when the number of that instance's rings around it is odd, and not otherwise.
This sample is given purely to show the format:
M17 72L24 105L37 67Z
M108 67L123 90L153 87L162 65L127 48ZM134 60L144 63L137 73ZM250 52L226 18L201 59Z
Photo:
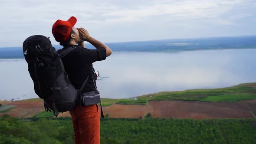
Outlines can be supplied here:
M256 0L0 0L0 47L77 18L103 43L256 35Z

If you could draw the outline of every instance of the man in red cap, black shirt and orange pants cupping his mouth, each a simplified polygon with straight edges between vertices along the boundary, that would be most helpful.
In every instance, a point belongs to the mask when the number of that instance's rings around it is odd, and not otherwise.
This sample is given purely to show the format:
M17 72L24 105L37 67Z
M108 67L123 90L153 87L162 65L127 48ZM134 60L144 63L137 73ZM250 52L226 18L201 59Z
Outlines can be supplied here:
M104 43L94 39L84 28L75 28L76 18L69 20L57 20L53 24L52 33L63 49L73 47L71 52L62 58L65 71L76 89L81 88L86 77L92 71L92 63L105 60L112 51ZM96 49L86 49L83 41L87 41ZM78 45L77 45L78 44ZM95 80L92 76L83 88L82 92L95 91ZM74 128L75 144L99 144L100 121L98 105L81 106L69 111Z

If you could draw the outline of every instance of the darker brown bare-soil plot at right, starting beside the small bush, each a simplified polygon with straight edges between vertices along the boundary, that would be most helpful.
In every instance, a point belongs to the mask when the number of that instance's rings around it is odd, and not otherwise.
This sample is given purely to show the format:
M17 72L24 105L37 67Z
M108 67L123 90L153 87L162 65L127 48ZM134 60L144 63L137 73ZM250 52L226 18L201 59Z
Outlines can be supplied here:
M149 101L148 105L148 112L157 118L254 118L246 102Z

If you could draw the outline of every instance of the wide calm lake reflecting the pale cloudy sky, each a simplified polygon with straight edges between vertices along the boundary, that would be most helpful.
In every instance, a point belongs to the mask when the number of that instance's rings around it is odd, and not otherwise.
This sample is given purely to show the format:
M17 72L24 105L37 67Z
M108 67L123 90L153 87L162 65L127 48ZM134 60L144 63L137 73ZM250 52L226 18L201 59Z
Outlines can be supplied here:
M102 98L256 82L256 49L113 52L95 62ZM36 98L25 59L0 59L0 100Z

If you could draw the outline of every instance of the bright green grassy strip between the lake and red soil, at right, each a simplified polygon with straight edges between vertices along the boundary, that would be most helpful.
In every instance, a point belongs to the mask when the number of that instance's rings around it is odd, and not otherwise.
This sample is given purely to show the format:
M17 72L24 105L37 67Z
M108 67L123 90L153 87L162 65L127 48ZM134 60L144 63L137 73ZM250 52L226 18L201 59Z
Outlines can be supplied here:
M130 99L119 99L117 104L146 105L148 101L211 101L235 102L256 99L256 83L240 84L228 88L193 89L177 92L159 92Z

